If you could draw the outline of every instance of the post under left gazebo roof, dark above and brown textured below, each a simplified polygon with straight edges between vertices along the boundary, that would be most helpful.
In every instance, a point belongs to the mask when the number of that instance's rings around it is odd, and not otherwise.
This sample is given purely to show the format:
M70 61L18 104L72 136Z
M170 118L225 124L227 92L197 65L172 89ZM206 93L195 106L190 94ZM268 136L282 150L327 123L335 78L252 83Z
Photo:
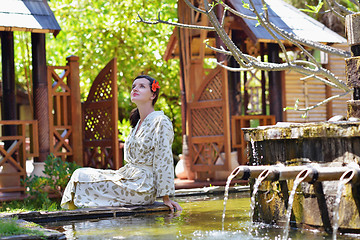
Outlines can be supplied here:
M45 34L31 33L33 65L34 119L39 123L39 157L35 162L44 162L50 153L50 127Z

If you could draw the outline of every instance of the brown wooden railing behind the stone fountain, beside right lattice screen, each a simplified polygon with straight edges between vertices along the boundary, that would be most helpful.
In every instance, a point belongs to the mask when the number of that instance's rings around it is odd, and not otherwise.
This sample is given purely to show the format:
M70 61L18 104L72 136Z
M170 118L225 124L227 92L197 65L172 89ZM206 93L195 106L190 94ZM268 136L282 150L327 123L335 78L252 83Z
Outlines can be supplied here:
M238 163L246 165L246 142L244 140L244 132L242 128L274 125L275 116L267 115L245 115L245 116L232 116L231 117L231 137L232 148L236 148L238 152Z

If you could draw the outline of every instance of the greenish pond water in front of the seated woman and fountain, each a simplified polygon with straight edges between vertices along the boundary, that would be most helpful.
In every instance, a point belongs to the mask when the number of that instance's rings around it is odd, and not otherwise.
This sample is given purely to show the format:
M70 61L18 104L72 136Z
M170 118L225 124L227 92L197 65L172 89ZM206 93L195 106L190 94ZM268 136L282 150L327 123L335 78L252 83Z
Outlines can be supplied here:
M192 196L176 199L181 213L156 213L118 218L53 222L47 228L64 232L67 239L281 239L283 228L250 224L249 193L232 193L222 223L223 196ZM331 235L291 229L291 239L332 239ZM358 239L360 235L338 235L338 240Z

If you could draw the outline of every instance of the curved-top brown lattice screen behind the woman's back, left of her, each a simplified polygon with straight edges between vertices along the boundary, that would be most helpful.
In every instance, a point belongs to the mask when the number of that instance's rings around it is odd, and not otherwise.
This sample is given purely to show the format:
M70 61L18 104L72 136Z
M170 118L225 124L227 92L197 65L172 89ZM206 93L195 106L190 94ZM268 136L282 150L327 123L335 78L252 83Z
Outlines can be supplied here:
M118 169L116 59L111 60L96 77L83 103L84 165Z

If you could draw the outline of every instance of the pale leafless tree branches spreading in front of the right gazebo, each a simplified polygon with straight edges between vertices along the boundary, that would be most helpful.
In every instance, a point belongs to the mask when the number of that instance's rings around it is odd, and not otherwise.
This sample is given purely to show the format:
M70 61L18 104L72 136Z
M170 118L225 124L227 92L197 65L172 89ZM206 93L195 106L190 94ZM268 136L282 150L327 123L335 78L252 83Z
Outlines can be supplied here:
M314 79L317 79L317 80L323 82L324 84L326 84L328 86L342 89L345 92L343 94L339 94L339 95L327 98L324 101L319 102L318 104L316 104L314 106L303 108L303 109L298 109L299 111L307 112L307 111L314 109L318 106L321 106L335 98L344 96L352 91L334 73L332 73L330 70L328 70L326 68L323 68L321 66L321 64L316 61L314 56L305 49L305 47L319 49L323 52L326 52L329 54L335 54L335 55L338 55L341 57L350 57L351 56L350 52L344 51L341 49L336 49L336 48L333 48L333 47L330 47L328 45L321 44L318 42L309 41L309 40L300 38L292 33L289 33L289 32L286 32L286 31L280 29L279 27L277 27L274 23L272 23L270 21L269 16L268 16L268 11L267 11L267 5L264 0L262 0L263 12L261 12L261 13L259 12L258 9L255 8L253 0L249 0L251 7L252 7L252 9L250 9L250 11L252 11L255 14L255 17L249 16L246 14L242 14L242 13L234 10L233 8L229 7L221 0L215 0L218 4L221 4L224 7L223 17L220 21L213 11L216 4L210 5L207 0L204 0L203 8L205 10L203 10L203 9L200 9L199 7L195 7L193 4L190 3L189 0L184 0L184 1L194 11L205 14L208 17L212 27L188 25L188 24L181 24L181 23L171 23L171 22L161 20L160 15L156 21L145 21L139 15L140 22L144 22L147 24L164 23L164 24L174 25L174 26L182 27L182 28L193 28L193 29L204 29L204 30L208 30L208 31L209 30L216 31L216 33L218 34L220 39L224 42L224 44L228 50L212 47L208 43L205 43L205 44L208 48L212 49L213 51L234 57L234 59L240 65L239 68L228 67L228 66L224 65L223 63L217 62L217 64L219 66L222 66L229 71L239 72L239 71L249 71L249 70L254 70L254 69L263 70L263 71L292 70L292 71L296 71L300 74L305 75L306 76L305 79L306 78L314 78ZM331 11L334 11L336 14L339 14L339 15L341 15L341 12L345 11L345 9L342 8L343 6L337 4L336 2L333 6L333 5L331 5L331 2L332 2L331 0L326 0L326 3L329 6L329 8L331 9ZM257 20L269 32L269 34L271 34L273 39L275 39L277 41L282 52L284 53L286 62L285 63L262 62L254 56L243 53L235 45L235 43L228 36L228 34L226 33L226 31L224 29L224 19L225 19L225 15L226 15L227 11L229 11L229 12L233 13L234 15L241 17L241 18ZM279 36L281 36L283 39L295 44L310 59L310 61L305 61L305 60L291 61L288 57L288 52L286 50L286 47L283 44L283 42L279 39Z

